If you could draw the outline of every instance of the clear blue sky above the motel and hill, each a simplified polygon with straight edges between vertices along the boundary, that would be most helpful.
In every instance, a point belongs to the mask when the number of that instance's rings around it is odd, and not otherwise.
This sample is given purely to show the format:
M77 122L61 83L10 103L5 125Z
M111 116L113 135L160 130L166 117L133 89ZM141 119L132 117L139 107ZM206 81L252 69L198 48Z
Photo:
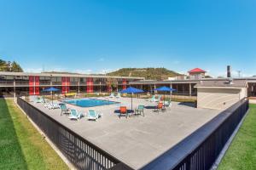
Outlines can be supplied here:
M254 0L0 0L0 59L25 71L195 67L256 75Z

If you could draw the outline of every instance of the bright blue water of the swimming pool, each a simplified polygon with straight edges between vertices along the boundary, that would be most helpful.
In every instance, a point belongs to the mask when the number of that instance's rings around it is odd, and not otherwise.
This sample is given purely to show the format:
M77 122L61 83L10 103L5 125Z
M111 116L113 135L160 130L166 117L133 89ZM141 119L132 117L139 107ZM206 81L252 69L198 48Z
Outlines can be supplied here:
M99 105L113 105L117 102L103 99L67 99L64 101L67 104L78 105L80 107L94 107Z

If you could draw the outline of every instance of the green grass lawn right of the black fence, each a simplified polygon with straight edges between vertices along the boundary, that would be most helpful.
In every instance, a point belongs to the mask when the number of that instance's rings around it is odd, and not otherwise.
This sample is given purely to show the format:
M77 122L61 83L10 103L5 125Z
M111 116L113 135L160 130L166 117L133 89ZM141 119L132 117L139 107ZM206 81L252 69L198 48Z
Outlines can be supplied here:
M250 105L247 117L218 167L218 170L226 169L256 169L256 105Z

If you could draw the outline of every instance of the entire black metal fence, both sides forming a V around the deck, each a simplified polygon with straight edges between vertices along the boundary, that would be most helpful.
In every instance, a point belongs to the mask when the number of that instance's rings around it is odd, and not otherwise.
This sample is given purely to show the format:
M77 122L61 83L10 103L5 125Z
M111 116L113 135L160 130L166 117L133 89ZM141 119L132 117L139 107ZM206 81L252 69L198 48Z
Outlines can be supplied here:
M79 169L132 169L25 100L18 98L17 103ZM242 99L142 169L210 169L247 110L248 100Z

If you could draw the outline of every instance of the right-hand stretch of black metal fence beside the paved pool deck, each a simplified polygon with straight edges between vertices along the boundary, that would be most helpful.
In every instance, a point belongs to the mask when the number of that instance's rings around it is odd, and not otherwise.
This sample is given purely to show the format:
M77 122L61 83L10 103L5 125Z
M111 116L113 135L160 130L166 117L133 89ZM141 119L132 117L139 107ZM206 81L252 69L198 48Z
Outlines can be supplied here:
M247 110L242 99L142 169L210 169Z

